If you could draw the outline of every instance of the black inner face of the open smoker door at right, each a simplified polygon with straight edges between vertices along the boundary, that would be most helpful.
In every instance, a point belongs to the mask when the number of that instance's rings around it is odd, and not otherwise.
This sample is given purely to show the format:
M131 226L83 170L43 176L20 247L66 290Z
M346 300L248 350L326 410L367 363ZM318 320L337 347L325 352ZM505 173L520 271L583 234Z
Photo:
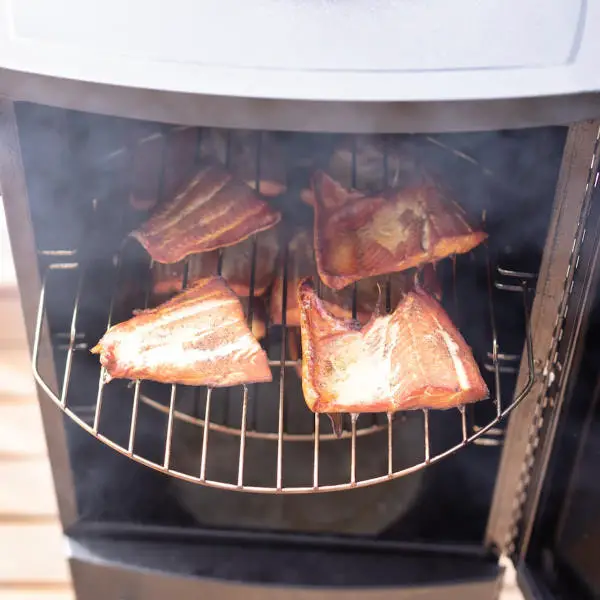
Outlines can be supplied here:
M600 597L600 193L590 182L586 233L539 432L516 548L546 597Z

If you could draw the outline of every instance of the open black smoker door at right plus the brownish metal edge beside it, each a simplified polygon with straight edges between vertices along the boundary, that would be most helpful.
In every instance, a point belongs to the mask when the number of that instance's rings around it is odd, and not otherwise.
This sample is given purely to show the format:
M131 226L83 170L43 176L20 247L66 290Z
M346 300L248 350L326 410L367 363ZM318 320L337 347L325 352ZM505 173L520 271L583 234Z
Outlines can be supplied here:
M536 381L488 522L526 598L600 597L599 126L571 127L565 145L531 317Z

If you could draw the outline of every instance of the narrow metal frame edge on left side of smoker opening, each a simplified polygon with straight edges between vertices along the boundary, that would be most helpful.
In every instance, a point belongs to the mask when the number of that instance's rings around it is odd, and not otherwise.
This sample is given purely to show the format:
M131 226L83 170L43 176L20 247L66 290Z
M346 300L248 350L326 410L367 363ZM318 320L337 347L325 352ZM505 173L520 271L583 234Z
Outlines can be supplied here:
M0 180L2 181L3 204L19 285L21 309L25 318L27 342L31 351L42 283L29 212L27 185L14 105L11 100L2 96L0 96ZM39 357L40 374L50 387L56 390L56 370L48 329L45 325L40 339ZM36 389L54 478L59 516L63 528L67 529L77 521L78 512L64 415L45 397L39 385L36 385Z

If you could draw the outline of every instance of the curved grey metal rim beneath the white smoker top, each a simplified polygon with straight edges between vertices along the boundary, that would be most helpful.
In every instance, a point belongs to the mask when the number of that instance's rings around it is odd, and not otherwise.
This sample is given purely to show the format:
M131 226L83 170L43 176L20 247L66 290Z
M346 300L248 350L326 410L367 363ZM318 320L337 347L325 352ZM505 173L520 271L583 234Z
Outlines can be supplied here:
M600 118L600 93L493 100L340 102L209 96L0 68L14 101L189 126L330 133L444 133L569 125Z

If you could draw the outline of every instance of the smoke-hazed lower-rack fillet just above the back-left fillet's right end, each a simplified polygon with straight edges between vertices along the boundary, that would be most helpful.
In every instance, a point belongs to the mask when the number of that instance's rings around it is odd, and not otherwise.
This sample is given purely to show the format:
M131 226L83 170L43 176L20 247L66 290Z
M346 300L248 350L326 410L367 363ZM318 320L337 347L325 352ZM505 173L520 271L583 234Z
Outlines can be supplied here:
M279 196L285 192L285 148L275 133L208 129L202 132L201 156L216 158L227 164L241 181L263 196Z

